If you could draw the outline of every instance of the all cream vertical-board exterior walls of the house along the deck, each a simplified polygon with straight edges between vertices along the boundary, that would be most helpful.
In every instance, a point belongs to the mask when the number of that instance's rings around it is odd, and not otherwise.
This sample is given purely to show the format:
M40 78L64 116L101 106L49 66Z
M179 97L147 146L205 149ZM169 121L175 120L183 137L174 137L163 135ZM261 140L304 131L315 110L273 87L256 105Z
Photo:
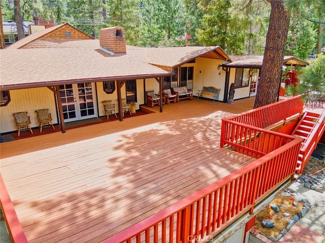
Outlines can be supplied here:
M196 95L198 90L201 90L203 86L214 86L221 89L219 94L219 100L222 100L224 90L225 71L222 68L218 69L218 65L222 64L222 60L197 58L196 63L184 64L183 66L193 65L193 94ZM145 79L145 89L154 90L159 93L159 83L155 78ZM11 101L7 106L0 107L1 121L0 132L7 133L17 130L13 113L19 111L27 111L30 116L31 127L38 127L38 121L35 110L48 108L52 114L53 124L58 124L58 113L56 109L56 102L54 94L48 88L33 88L23 90L11 90ZM98 116L104 116L102 101L112 100L115 103L116 112L118 113L117 102L117 90L113 94L106 94L103 89L103 82L96 83L96 97L98 102ZM126 97L125 85L121 88L121 97ZM213 99L212 97L205 97ZM145 92L143 79L137 79L137 105L136 109L140 108L140 105L145 104Z

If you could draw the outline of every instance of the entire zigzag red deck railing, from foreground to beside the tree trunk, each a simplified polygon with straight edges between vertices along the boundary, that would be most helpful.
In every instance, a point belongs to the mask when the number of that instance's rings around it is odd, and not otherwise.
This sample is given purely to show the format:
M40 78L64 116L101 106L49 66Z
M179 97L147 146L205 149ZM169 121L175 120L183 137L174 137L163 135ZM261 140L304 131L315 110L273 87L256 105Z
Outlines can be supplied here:
M303 141L264 128L302 111L303 101L297 96L222 119L220 146L257 160L102 243L197 242L194 239L215 235L252 213L258 201L293 179Z

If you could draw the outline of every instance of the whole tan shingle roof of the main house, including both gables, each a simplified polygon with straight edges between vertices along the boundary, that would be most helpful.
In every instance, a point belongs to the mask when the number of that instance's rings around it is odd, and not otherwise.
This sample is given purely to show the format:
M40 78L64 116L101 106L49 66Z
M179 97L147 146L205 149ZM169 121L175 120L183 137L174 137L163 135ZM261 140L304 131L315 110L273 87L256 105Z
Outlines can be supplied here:
M101 49L98 39L52 37L69 24L40 30L0 50L3 90L171 75L174 67L197 57L230 60L220 47L140 48L126 55ZM76 31L76 28L74 28ZM81 32L81 31L80 31ZM81 36L83 32L81 32ZM56 35L55 35L56 36ZM59 36L59 35L58 35Z

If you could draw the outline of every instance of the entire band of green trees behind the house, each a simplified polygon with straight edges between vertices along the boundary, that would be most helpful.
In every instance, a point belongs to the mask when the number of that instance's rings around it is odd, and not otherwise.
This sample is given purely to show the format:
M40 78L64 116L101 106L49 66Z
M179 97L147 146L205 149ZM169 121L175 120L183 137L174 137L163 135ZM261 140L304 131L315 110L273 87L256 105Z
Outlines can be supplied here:
M305 59L317 48L325 0L284 3L292 13L286 54ZM238 55L263 55L271 8L267 1L254 0L21 0L21 7L24 21L37 12L95 38L101 28L118 25L128 45L221 46ZM2 12L3 21L14 21L13 0L2 1ZM184 39L186 33L191 39ZM325 42L325 31L320 40Z

